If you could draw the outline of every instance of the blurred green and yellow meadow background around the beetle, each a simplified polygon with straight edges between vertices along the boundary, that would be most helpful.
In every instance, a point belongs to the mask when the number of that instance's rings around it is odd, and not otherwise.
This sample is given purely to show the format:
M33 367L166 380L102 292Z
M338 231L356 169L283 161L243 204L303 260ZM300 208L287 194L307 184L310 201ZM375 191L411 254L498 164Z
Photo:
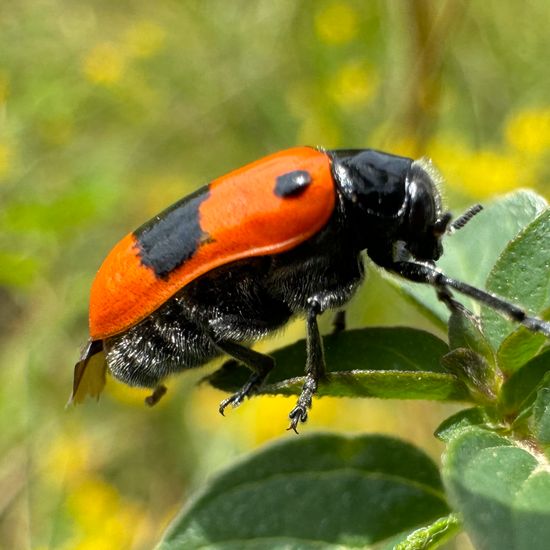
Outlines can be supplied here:
M154 409L112 380L64 409L119 238L296 144L429 155L455 211L519 186L548 197L548 21L546 0L4 0L0 547L150 548L213 471L294 437L292 400L222 418L223 395L196 386L208 369ZM351 305L351 326L419 322L376 272ZM295 323L258 348L302 335ZM398 434L438 457L448 412L325 398L303 431Z

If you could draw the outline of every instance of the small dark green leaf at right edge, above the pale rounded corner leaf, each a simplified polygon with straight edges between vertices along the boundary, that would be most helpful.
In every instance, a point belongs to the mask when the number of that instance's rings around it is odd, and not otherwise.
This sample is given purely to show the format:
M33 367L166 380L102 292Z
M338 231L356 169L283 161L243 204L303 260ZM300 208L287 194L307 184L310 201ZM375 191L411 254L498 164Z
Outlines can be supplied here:
M506 414L518 413L535 400L536 390L550 371L550 349L531 359L502 386L501 408Z

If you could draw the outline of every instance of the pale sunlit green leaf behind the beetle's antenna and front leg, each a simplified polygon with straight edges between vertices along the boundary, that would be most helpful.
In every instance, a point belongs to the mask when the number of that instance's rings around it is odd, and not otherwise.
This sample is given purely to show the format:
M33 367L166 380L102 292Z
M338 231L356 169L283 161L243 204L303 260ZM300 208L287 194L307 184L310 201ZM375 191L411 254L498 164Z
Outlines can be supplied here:
M445 240L445 253L438 261L444 273L471 285L483 287L489 272L506 244L531 223L547 206L532 191L517 191L488 204L464 229ZM498 230L496 230L498 228ZM448 311L427 285L415 284L388 275L390 281L417 303L420 311L428 311L446 322ZM460 297L469 309L479 311L469 298Z

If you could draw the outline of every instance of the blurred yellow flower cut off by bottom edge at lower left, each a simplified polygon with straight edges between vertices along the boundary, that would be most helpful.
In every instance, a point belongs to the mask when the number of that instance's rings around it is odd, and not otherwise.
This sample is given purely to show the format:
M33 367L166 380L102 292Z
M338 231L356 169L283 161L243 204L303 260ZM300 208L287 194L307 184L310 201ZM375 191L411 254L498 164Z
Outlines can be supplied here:
M99 478L81 483L67 505L77 531L73 550L129 548L140 523L146 521L137 505L122 499L115 487Z

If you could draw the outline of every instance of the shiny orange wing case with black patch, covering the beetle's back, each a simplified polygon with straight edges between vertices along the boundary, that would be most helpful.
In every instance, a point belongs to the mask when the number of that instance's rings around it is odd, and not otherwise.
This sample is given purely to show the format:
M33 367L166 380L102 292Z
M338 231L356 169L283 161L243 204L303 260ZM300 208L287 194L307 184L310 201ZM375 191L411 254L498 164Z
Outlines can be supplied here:
M277 178L288 167L310 180L300 192L279 196ZM335 200L330 159L310 147L275 153L215 179L111 250L92 286L91 339L136 325L216 267L294 248L327 223Z

